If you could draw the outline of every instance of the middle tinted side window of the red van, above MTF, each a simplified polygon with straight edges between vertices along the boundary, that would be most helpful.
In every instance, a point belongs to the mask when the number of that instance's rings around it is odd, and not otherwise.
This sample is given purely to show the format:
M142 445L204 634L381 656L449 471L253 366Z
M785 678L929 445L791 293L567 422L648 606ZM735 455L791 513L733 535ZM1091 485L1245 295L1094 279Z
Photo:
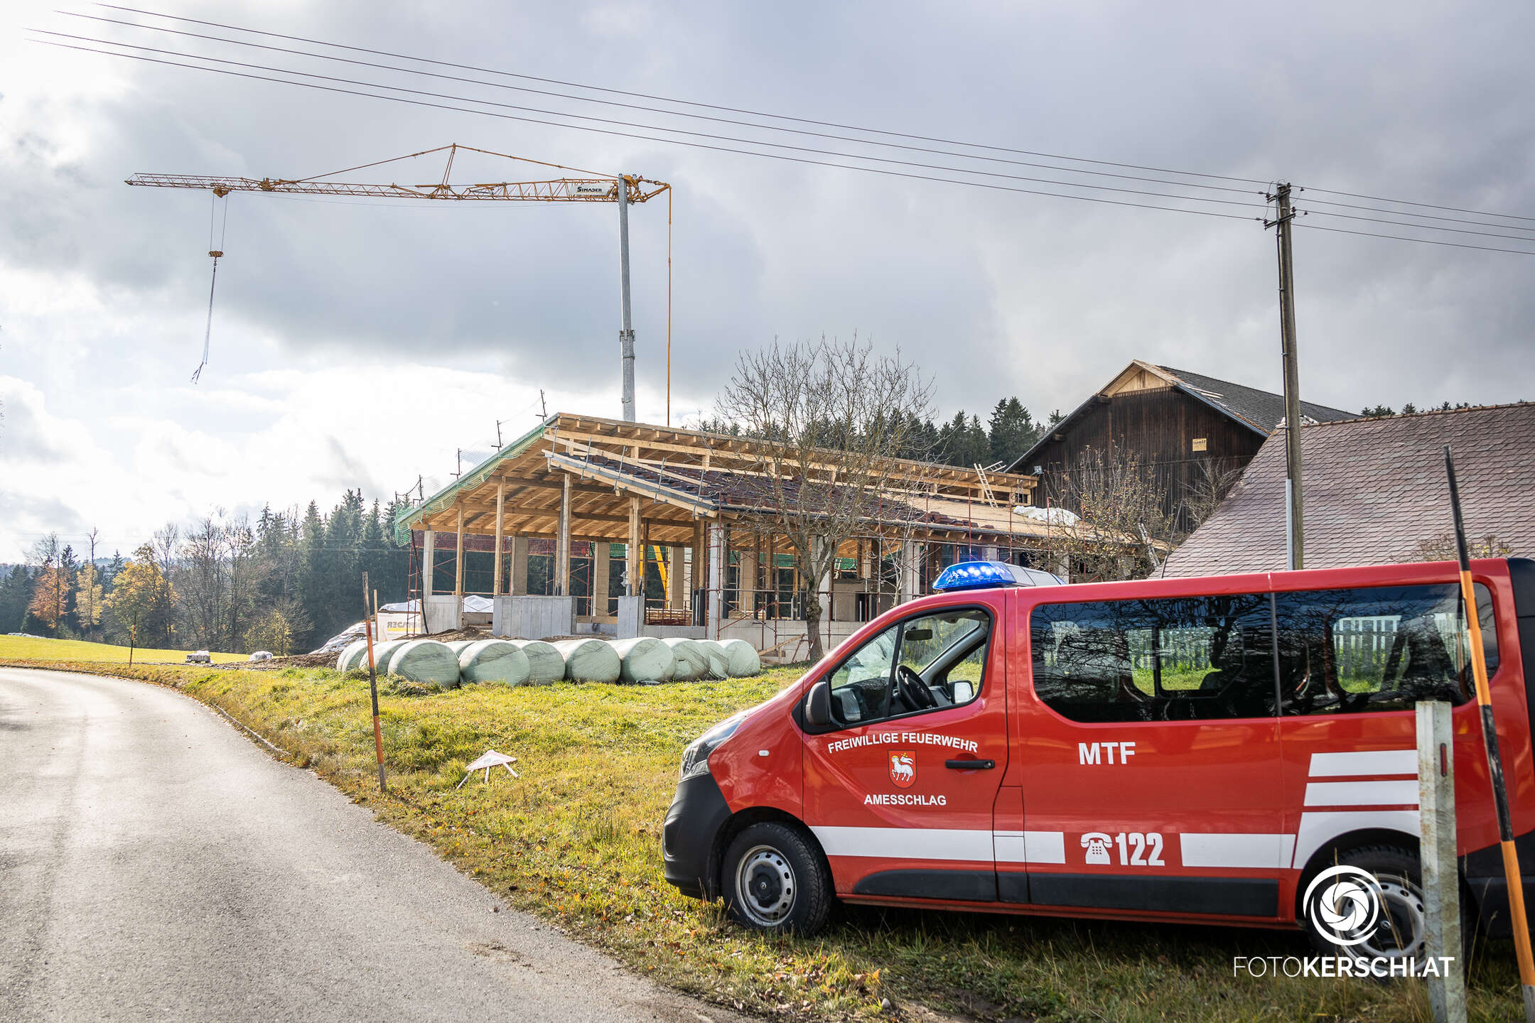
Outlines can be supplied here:
M1274 713L1268 594L1041 604L1035 692L1071 721Z

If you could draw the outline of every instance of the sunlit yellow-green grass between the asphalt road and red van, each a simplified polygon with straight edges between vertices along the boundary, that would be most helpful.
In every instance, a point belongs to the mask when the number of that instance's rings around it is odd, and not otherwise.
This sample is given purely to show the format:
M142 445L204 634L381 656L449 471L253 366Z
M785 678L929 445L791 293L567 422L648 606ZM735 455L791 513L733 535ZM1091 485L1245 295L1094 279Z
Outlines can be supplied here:
M58 664L55 667L69 667ZM840 908L814 939L764 939L660 876L683 745L795 678L659 687L474 686L381 696L390 794L373 781L367 684L336 672L78 666L216 704L499 899L635 971L777 1018L1428 1020L1420 985L1233 977L1231 957L1306 954L1299 934ZM520 778L462 790L494 747ZM1506 943L1472 968L1471 1018L1518 1018ZM881 1012L881 998L893 1011Z

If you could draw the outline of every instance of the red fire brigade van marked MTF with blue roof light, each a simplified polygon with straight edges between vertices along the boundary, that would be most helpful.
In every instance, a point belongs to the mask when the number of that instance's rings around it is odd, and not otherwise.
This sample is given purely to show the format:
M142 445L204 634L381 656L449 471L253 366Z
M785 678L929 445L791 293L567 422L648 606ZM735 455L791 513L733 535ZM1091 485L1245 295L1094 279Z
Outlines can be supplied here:
M1535 561L1474 577L1532 879ZM1039 586L950 566L688 747L666 879L800 934L834 897L1283 928L1312 876L1354 865L1380 880L1386 926L1351 951L1415 954L1414 704L1444 699L1464 902L1507 933L1457 578L1437 563Z

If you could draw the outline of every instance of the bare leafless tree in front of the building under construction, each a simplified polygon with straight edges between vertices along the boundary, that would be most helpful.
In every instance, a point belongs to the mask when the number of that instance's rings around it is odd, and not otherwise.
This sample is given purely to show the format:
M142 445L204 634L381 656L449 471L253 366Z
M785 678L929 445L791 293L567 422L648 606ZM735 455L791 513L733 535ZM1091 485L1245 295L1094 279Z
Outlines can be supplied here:
M896 459L912 452L930 406L930 379L900 351L875 354L857 336L775 339L737 357L717 413L757 442L746 488L794 548L812 660L824 653L820 581L832 575L838 546L880 517L881 494L903 468Z

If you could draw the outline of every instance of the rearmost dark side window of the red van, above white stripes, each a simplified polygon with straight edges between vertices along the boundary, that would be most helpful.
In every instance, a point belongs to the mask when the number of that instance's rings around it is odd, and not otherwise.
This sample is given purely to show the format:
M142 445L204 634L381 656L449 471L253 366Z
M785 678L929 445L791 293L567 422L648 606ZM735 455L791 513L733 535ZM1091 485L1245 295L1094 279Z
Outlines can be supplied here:
M1412 710L1463 704L1474 690L1461 636L1460 586L1369 586L1274 595L1286 715ZM1492 597L1477 586L1487 673L1498 666Z

